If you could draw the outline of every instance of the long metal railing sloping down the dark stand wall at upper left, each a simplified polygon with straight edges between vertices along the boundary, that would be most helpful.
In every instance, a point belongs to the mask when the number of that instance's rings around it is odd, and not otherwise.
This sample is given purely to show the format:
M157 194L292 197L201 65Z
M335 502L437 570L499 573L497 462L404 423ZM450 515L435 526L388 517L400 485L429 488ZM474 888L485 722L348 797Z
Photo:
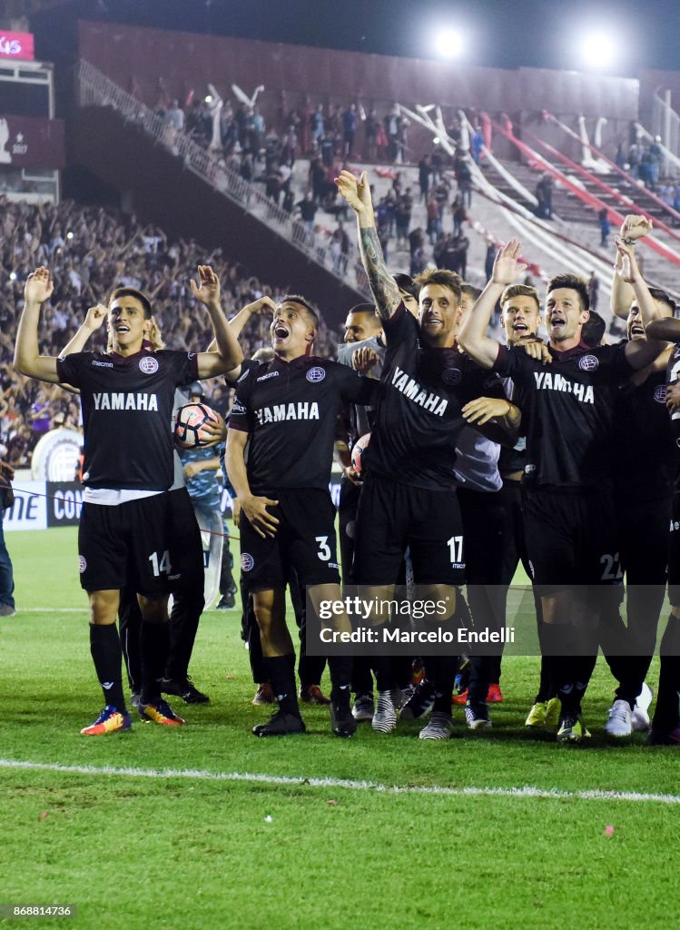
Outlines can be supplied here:
M371 300L366 272L350 256L334 254L325 233L314 233L300 219L274 203L256 185L226 166L223 159L207 151L186 133L176 130L167 119L154 113L132 94L115 84L89 61L80 60L77 70L78 102L81 107L112 107L116 113L140 126L156 144L180 160L182 166L207 182L215 191L240 206L264 226L282 236L309 261L332 274L339 282ZM354 283L350 283L353 275Z

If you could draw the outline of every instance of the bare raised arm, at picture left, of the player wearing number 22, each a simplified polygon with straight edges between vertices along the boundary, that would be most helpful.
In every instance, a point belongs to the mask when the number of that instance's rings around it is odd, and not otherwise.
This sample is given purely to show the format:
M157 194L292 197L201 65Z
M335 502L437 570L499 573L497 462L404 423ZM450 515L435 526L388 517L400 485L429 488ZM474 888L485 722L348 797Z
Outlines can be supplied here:
M460 347L472 355L475 362L484 368L490 368L499 353L499 343L487 336L487 329L496 302L508 285L512 285L519 274L527 268L519 261L522 244L519 239L511 239L500 249L493 265L491 280L476 300L473 309L465 315L460 327L458 341Z

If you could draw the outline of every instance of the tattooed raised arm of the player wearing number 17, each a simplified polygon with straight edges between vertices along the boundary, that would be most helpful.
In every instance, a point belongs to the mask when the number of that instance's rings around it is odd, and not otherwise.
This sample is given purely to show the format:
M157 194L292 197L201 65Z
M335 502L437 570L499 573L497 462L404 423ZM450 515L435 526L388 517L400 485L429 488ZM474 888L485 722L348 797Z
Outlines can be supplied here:
M338 190L356 214L359 250L368 276L368 284L373 292L380 317L383 320L389 320L401 303L401 295L392 274L387 270L382 255L366 171L358 180L351 171L342 171L335 182Z

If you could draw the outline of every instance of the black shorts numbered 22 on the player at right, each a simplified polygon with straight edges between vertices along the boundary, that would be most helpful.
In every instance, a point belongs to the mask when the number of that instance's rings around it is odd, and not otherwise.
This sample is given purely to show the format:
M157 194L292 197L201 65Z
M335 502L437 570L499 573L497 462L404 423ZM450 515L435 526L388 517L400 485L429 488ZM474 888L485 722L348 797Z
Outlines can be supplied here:
M607 490L524 488L531 578L541 593L620 584L614 500Z

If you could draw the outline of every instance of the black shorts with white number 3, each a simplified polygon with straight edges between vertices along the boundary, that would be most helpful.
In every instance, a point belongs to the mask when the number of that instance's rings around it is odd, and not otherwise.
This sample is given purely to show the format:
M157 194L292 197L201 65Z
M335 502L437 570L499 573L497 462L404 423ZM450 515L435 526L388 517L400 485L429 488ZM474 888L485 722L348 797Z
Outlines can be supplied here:
M278 500L267 510L279 521L275 537L262 538L244 516L239 525L241 571L247 590L285 588L291 568L300 585L340 584L335 507L320 488L268 490Z

